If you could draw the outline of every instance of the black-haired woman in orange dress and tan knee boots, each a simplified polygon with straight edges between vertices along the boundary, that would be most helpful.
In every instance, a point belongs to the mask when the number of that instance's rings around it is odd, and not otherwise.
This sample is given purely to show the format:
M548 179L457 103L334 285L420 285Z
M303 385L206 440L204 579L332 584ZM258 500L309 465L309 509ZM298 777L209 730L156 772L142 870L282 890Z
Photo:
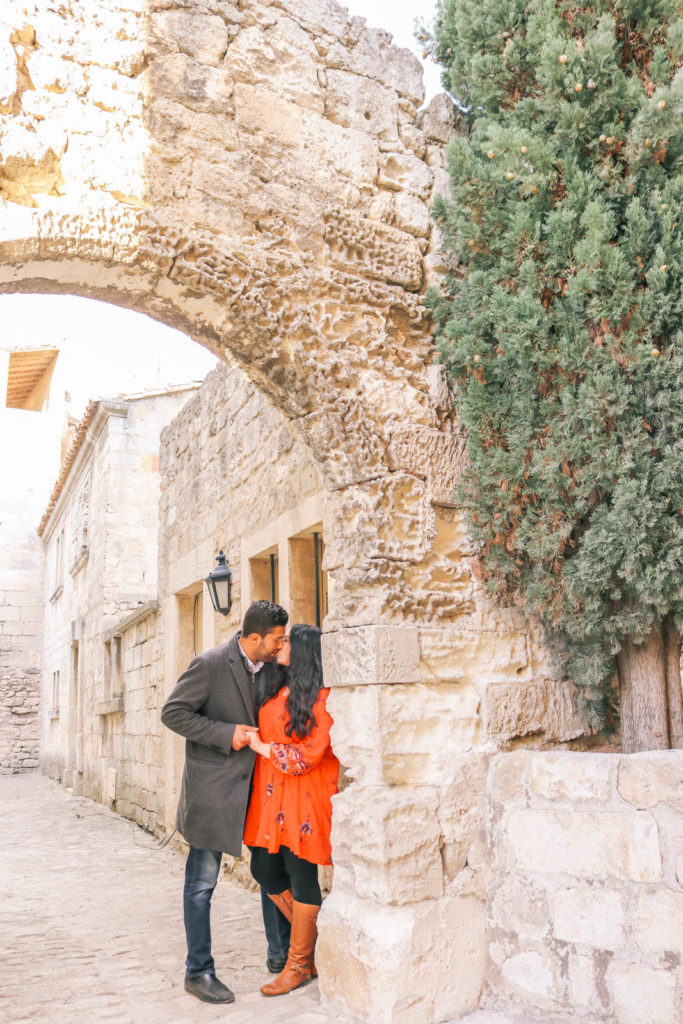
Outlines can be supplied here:
M256 759L245 843L251 871L292 924L285 970L261 991L284 995L315 977L313 947L323 902L317 865L332 863L332 796L339 762L330 746L332 718L323 688L321 631L293 626L278 662L278 692L250 733Z

